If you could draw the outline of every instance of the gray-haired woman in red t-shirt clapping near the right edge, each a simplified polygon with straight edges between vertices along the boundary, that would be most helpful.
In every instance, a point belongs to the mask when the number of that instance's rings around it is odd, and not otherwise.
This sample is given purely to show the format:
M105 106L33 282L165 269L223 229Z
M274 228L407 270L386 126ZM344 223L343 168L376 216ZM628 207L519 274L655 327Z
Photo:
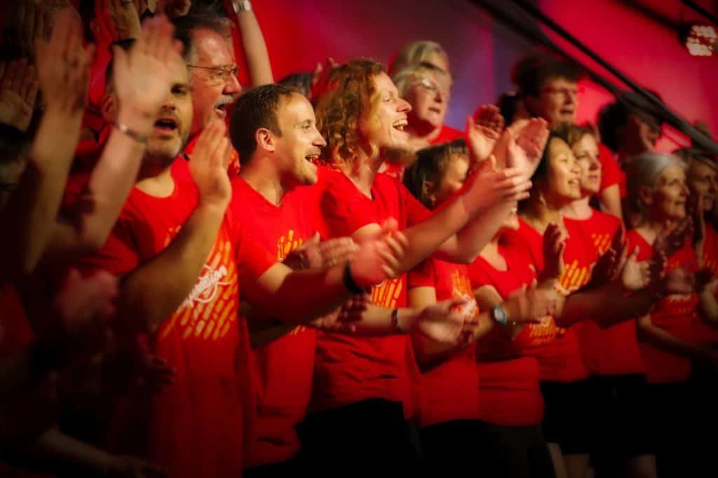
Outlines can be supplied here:
M626 204L640 218L638 227L627 236L629 247L638 248L639 258L651 256L663 248L666 223L675 225L686 218L689 189L684 164L669 154L640 154L628 162L626 177ZM690 238L682 238L666 256L666 278L681 287L638 319L638 339L656 417L653 434L658 474L685 476L706 471L698 469L703 459L696 454L696 442L689 439L695 433L691 424L702 420L705 413L694 414L698 397L686 382L691 359L717 367L718 354L696 343L694 337L700 299L692 278L698 266Z

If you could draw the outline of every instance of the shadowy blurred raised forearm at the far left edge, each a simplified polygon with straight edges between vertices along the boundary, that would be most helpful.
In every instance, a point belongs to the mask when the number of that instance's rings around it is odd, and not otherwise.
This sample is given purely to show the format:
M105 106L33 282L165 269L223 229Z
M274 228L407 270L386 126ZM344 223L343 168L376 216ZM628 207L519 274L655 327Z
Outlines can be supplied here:
M0 238L6 279L31 273L50 241L81 119L80 114L55 110L42 118L17 189L0 212L0 224L13 230Z

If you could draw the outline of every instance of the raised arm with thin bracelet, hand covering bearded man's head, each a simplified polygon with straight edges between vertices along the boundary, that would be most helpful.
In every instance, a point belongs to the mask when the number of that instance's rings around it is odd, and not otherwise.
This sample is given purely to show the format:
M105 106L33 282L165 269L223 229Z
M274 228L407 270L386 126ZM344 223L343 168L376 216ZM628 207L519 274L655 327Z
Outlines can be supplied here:
M118 117L78 204L67 212L52 235L47 261L72 261L101 248L134 186L144 156L144 141L120 131L130 128L149 136L170 91L172 56L181 44L166 17L145 22L129 52L113 50L113 89Z

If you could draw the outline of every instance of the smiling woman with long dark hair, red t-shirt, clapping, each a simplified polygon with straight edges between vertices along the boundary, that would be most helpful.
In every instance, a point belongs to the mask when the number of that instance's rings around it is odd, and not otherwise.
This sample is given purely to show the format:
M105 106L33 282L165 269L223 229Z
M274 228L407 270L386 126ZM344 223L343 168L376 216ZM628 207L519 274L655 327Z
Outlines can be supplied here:
M556 314L556 339L537 349L541 372L541 390L546 400L544 432L556 469L566 467L569 476L582 476L588 466L590 446L589 416L576 409L577 403L590 400L588 370L582 358L577 322L587 318L600 324L613 324L635 317L625 302L612 299L625 288L642 289L648 285L648 264L639 266L629 258L621 273L622 281L599 279L601 268L594 268L599 253L589 233L571 220L563 220L562 210L581 198L581 169L561 128L551 130L544 158L533 176L531 198L522 205L521 221L515 235L528 244L539 277L556 281L556 291L564 297ZM558 266L543 263L542 234L551 222L561 226L567 236ZM564 266L565 264L565 266ZM612 277L612 274L608 277ZM583 290L582 290L583 289ZM610 301L607 299L611 298ZM647 294L643 310L652 302ZM637 301L632 301L637 302Z

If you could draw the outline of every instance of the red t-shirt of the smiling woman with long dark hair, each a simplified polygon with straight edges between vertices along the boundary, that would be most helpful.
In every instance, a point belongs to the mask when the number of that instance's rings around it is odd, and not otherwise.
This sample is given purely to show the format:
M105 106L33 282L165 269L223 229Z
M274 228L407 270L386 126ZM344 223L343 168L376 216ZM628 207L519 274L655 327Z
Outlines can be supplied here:
M533 229L523 220L519 220L519 229L512 234L526 240L528 250L535 261L536 272L541 273L544 269L543 235ZM559 278L556 288L559 294L567 296L577 291L589 281L590 269L597 261L598 255L592 245L585 244L587 238L578 230L573 231L567 225L569 238L566 239L564 249L564 273ZM542 321L539 330L542 330L543 337L550 336L551 328L556 327L553 319ZM532 329L533 332L533 329ZM541 380L557 382L573 382L588 377L588 370L584 365L579 345L579 338L574 327L564 329L556 327L554 340L529 349L538 360Z

